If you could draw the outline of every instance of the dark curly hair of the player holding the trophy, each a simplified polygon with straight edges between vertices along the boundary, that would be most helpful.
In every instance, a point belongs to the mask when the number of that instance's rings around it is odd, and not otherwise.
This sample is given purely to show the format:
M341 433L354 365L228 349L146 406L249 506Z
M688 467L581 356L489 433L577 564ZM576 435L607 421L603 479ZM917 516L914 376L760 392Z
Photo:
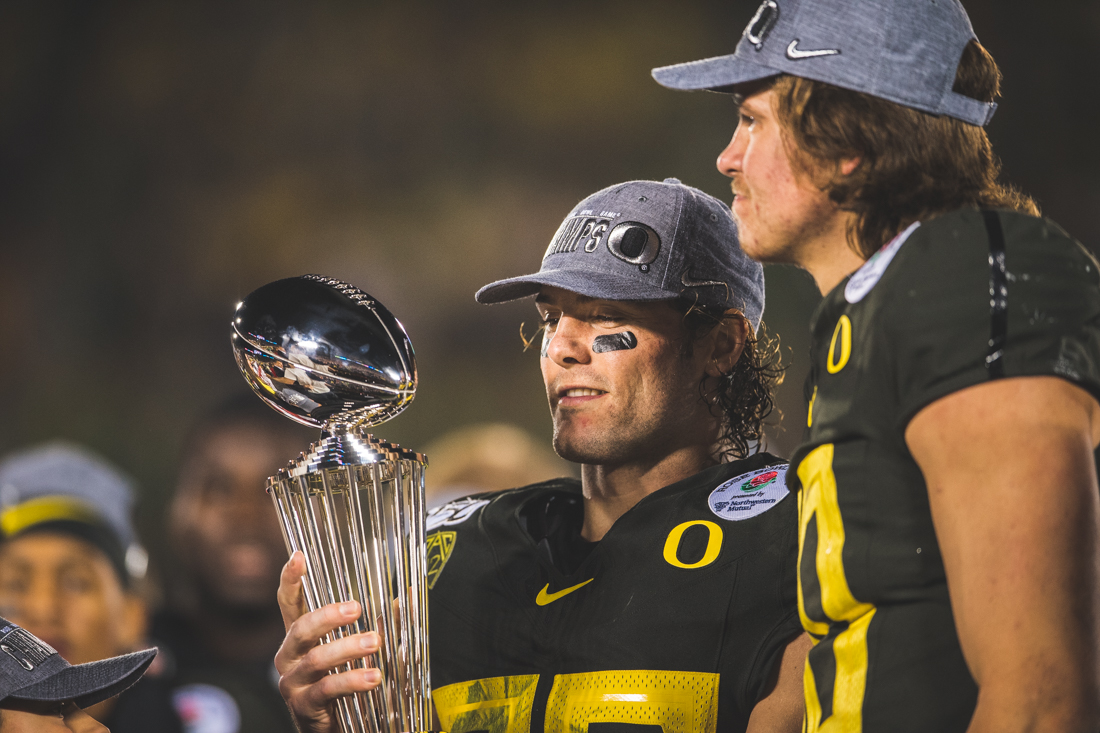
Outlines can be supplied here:
M695 342L725 320L745 316L717 306L702 306L686 299L673 302L683 314L685 338L681 355L690 357ZM732 461L759 452L763 444L765 420L776 409L776 387L783 382L787 368L779 354L779 338L768 335L760 324L758 333L746 329L748 339L741 355L714 386L713 378L704 375L698 383L700 398L718 418L721 433L716 458Z

